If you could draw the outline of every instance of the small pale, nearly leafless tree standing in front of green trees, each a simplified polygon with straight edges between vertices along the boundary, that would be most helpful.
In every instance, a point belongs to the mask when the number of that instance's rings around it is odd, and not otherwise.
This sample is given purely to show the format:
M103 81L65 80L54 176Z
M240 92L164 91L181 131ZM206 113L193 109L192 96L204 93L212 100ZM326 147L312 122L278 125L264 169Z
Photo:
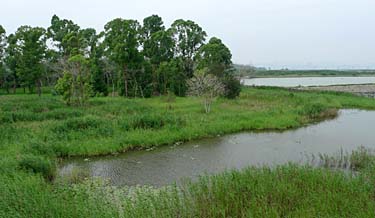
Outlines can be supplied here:
M206 113L210 113L212 102L225 91L220 79L209 74L207 69L196 71L188 80L188 87L190 95L203 98Z

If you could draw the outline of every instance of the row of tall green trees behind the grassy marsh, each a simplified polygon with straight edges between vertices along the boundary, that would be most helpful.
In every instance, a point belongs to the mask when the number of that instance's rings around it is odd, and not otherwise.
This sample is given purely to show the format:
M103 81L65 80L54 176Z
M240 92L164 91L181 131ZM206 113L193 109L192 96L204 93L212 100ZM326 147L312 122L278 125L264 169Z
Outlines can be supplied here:
M232 54L216 37L191 20L166 28L161 17L117 18L104 31L81 28L54 15L47 28L21 26L7 35L0 25L0 86L8 93L42 93L55 86L65 100L93 95L185 96L188 80L205 69L234 98L240 83L233 75Z

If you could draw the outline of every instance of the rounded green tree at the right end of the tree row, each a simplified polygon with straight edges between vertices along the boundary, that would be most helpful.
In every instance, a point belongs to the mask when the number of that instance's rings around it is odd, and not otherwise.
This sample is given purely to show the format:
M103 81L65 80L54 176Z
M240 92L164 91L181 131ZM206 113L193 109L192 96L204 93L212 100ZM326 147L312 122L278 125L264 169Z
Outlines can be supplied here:
M234 77L232 54L227 46L216 37L203 45L196 56L197 68L208 69L208 73L220 78L225 86L224 96L235 98L240 94L240 80Z

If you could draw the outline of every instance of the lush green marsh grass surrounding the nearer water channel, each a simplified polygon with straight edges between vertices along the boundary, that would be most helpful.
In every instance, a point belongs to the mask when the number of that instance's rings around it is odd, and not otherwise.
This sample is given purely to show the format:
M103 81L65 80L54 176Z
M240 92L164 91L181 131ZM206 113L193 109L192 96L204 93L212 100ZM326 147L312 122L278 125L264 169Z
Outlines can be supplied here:
M158 190L50 182L59 158L247 130L286 130L334 117L340 108L375 109L375 101L333 92L244 88L238 99L219 99L205 114L195 98L103 97L71 108L57 96L1 95L0 217L371 217L373 159L362 163L361 155L356 166L365 169L363 176L287 165L204 176Z

